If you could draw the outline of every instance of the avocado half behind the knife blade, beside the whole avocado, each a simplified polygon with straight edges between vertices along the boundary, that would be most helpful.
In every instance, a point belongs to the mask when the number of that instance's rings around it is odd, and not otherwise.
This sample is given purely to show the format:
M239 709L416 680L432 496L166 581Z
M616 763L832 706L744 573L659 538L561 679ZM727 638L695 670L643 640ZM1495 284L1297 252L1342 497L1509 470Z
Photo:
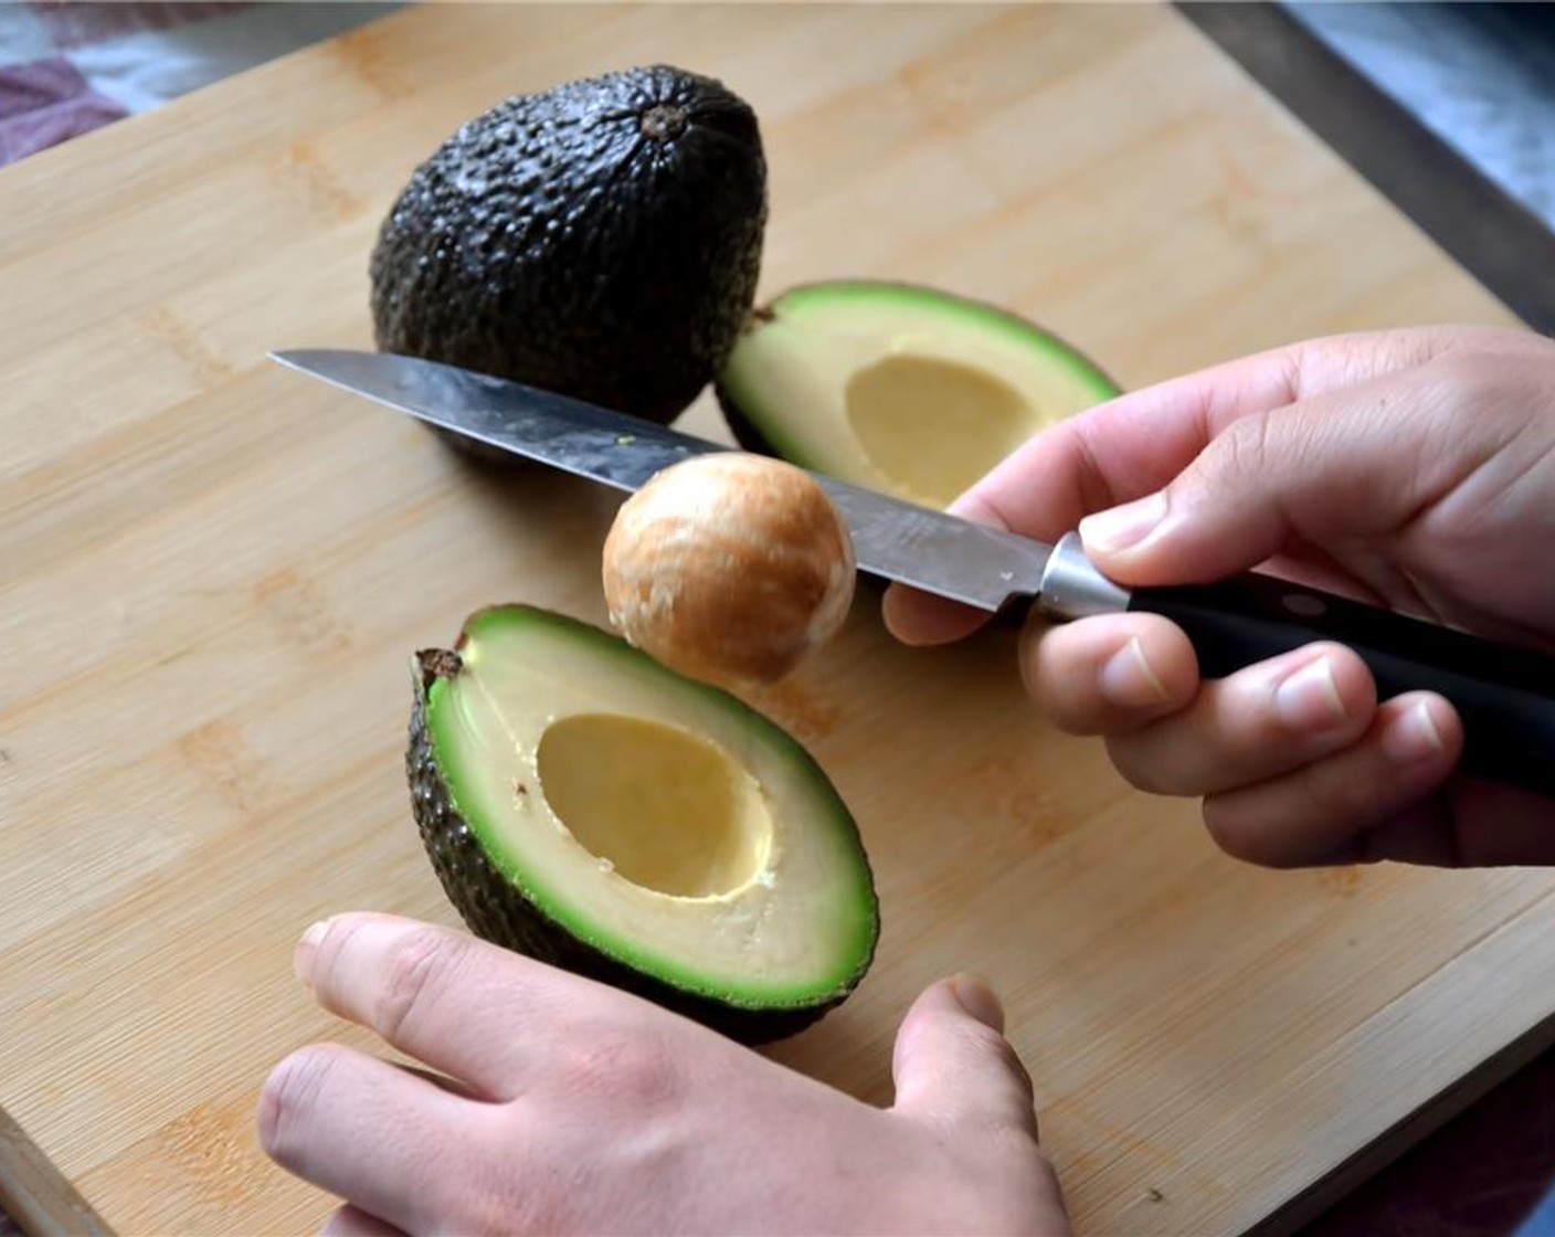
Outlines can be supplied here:
M805 283L760 307L715 384L748 451L930 507L1118 392L1019 314L880 280Z

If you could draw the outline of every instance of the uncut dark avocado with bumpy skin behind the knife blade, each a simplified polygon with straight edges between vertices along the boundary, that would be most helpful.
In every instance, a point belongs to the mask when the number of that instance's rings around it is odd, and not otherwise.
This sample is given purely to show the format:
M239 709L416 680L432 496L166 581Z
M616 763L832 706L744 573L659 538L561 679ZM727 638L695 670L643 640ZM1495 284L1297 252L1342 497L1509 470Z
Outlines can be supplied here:
M765 224L756 114L722 82L652 65L515 95L384 218L375 341L669 423L734 347Z

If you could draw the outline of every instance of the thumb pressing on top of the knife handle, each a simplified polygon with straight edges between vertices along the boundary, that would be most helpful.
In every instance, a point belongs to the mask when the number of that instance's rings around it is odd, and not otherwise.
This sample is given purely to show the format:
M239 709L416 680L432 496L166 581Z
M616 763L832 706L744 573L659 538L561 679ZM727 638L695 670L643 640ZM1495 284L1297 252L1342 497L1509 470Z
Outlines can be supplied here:
M1154 493L1079 523L1123 583L1193 583L1295 540L1384 538L1477 467L1496 426L1446 415L1426 367L1238 417Z

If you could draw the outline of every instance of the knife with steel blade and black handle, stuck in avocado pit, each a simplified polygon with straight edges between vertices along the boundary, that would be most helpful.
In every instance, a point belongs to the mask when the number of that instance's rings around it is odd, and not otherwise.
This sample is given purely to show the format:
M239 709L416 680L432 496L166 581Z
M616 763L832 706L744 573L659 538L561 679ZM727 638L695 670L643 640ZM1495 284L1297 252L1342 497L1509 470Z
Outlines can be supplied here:
M734 450L550 391L384 352L309 349L275 361L400 412L619 490L708 451ZM1460 769L1555 798L1555 660L1249 573L1123 588L1085 557L812 473L846 521L860 571L991 615L1036 607L1054 622L1116 611L1163 615L1216 678L1314 640L1354 649L1378 696L1429 689L1463 720Z

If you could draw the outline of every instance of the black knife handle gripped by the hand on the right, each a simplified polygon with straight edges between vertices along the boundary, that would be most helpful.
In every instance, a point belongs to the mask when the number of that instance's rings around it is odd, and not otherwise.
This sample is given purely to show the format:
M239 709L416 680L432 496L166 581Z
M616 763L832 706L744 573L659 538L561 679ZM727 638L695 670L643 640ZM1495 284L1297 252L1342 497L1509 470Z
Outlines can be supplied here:
M1135 588L1127 608L1182 627L1207 678L1314 640L1345 644L1379 699L1423 689L1452 702L1465 773L1555 798L1555 660L1270 576Z

